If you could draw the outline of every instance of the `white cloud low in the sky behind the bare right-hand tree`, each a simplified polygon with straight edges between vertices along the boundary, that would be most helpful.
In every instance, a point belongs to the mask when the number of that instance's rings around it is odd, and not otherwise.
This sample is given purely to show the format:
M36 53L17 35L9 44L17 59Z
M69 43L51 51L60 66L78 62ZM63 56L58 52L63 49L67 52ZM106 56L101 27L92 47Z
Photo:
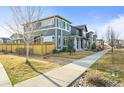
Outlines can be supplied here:
M124 39L124 15L118 15L118 18L112 19L103 26L98 27L98 38L101 38L102 36L106 38L105 34L108 26L111 26L114 31L119 33L119 39Z

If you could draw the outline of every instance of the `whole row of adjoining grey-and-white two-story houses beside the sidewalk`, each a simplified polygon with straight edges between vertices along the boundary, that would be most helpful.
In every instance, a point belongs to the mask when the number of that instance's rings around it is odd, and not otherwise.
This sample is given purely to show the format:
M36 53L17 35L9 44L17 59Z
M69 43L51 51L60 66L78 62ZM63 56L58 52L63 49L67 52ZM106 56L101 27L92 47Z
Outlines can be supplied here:
M86 25L73 26L69 20L59 15L33 21L32 26L33 43L55 43L57 50L68 45L69 37L73 37L74 48L77 51L90 48L96 43L97 35L88 32ZM30 31L27 24L24 25L24 31L27 33ZM87 37L88 33L89 37Z

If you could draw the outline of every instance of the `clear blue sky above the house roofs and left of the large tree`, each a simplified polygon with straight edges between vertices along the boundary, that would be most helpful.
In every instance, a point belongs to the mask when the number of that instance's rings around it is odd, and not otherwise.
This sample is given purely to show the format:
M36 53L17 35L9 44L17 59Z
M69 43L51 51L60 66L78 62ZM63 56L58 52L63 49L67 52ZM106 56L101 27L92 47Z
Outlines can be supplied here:
M107 6L49 6L45 7L44 16L59 14L72 22L73 25L86 24L89 29L101 33L100 28L124 17L124 7ZM11 19L8 7L0 7L0 23ZM11 22L11 21L10 21ZM118 23L118 22L117 22ZM123 21L122 21L123 23ZM100 36L100 35L99 35ZM123 36L121 36L122 38Z

